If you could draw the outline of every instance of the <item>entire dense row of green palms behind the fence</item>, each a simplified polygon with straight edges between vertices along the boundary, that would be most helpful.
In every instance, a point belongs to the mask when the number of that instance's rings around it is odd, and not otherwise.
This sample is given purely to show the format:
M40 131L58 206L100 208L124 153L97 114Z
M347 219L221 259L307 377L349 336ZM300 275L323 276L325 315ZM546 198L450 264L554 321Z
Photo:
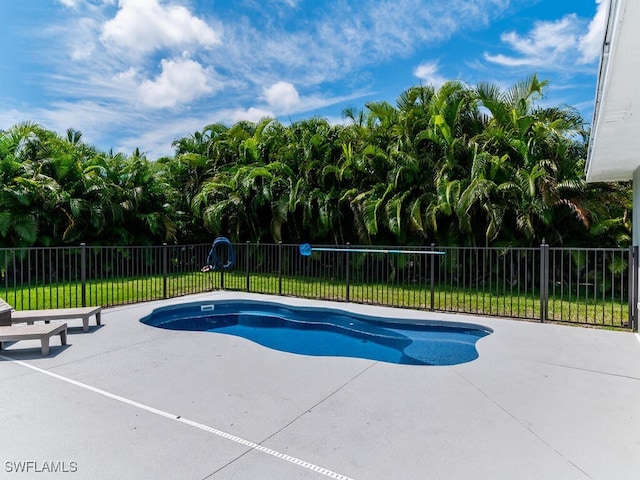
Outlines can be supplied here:
M0 132L0 247L283 241L627 245L630 185L587 184L588 132L547 84L415 86L396 104L212 124L148 160L33 123Z

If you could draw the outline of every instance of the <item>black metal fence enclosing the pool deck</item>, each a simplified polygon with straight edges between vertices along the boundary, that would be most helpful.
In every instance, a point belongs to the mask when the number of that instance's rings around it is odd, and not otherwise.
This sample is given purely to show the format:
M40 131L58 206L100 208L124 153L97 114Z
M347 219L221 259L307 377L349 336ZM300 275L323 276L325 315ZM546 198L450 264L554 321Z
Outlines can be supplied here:
M235 244L0 249L0 296L19 310L114 306L242 290L311 299L638 329L637 249ZM231 253L218 252L222 263Z

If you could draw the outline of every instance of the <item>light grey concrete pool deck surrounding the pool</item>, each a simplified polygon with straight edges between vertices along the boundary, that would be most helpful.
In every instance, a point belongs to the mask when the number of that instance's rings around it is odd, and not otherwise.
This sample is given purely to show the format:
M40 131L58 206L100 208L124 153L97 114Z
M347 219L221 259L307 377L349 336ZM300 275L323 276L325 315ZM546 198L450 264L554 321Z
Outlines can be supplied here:
M494 333L473 362L425 367L295 355L138 321L215 298ZM37 341L0 351L0 478L640 478L634 333L236 292L105 309L102 324L83 333L80 320L68 322L68 345L53 339L48 357Z

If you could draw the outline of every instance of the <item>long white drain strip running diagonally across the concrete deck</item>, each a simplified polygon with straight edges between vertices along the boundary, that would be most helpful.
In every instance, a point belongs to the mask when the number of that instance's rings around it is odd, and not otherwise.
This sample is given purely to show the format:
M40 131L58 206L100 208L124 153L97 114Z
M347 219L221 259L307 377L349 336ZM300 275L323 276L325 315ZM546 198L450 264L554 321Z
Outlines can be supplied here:
M130 405L132 407L136 407L136 408L139 408L141 410L145 410L145 411L147 411L149 413L153 413L155 415L159 415L161 417L165 417L165 418L167 418L169 420L174 420L176 422L179 422L179 423L182 423L182 424L185 424L185 425L189 425L191 427L203 430L205 432L211 433L211 434L216 435L218 437L225 438L225 439L230 440L232 442L235 442L237 444L244 445L245 447L248 447L250 450L255 450L255 451L258 451L258 452L262 452L262 453L265 453L267 455L271 455L272 457L279 458L280 460L284 460L285 462L293 463L293 464L298 465L298 466L300 466L302 468L306 468L307 470L312 470L312 471L317 472L317 473L319 473L321 475L324 475L325 477L333 478L333 479L336 479L336 480L353 480L352 478L347 477L346 475L342 475L340 473L334 472L332 470L329 470L327 468L321 467L319 465L315 465L313 463L301 460L299 458L292 457L291 455L287 455L285 453L278 452L278 451L273 450L271 448L265 447L264 445L261 445L259 443L255 443L255 442L252 442L250 440L246 440L244 438L238 437L238 436L233 435L231 433L223 432L222 430L218 430L217 428L213 428L213 427L210 427L208 425L203 425L201 423L194 422L193 420L189 420L189 419L184 418L184 417L182 417L180 415L175 415L173 413L165 412L163 410L159 410L159 409L151 407L149 405L144 405L144 404L136 402L134 400L130 400L130 399L125 398L125 397L121 397L120 395L115 395L113 393L107 392L106 390L102 390L100 388L93 387L93 386L88 385L86 383L78 382L77 380L73 380L71 378L64 377L62 375L58 375L57 373L53 373L53 372L51 372L49 370L45 370L43 368L39 368L39 367L36 367L34 365L30 365L29 363L26 363L26 362L23 362L23 361L20 361L20 360L14 360L14 359L12 359L10 357L6 357L4 355L0 355L0 360L9 361L9 362L12 362L12 363L15 363L15 364L18 364L18 365L22 365L23 367L29 368L29 369L34 370L34 371L36 371L38 373L41 373L43 375L47 375L49 377L55 378L57 380L61 380L63 382L66 382L66 383L69 383L71 385L74 385L76 387L80 387L80 388L83 388L85 390L89 390L91 392L97 393L99 395L102 395L104 397L110 398L112 400L116 400L116 401L124 403L126 405Z

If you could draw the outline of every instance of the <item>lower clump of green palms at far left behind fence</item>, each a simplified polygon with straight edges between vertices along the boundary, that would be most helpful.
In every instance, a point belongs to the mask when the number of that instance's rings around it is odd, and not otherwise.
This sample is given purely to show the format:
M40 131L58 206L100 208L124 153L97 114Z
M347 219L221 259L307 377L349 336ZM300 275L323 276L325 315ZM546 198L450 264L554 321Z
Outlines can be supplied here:
M153 162L100 152L72 129L34 123L0 132L0 247L135 245L176 238Z

